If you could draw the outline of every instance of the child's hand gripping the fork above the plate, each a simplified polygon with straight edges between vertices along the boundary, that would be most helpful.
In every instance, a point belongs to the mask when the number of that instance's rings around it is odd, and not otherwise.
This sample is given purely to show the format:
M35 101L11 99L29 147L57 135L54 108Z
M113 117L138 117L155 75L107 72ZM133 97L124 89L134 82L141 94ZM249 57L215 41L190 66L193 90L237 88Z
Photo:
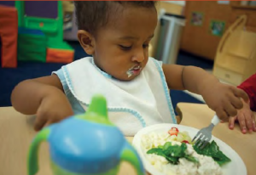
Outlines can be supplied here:
M229 121L230 116L236 116L237 110L243 106L241 98L248 101L247 93L243 90L221 82L208 86L201 95L222 121Z

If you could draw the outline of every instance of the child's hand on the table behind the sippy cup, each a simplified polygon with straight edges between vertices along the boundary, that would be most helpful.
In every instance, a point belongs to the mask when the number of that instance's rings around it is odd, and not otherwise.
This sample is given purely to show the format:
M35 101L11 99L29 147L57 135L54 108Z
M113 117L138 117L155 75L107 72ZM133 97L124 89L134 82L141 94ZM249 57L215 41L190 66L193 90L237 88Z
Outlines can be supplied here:
M71 104L69 104L64 93L44 97L38 107L37 118L34 123L36 131L41 130L49 124L61 121L68 116L73 116Z

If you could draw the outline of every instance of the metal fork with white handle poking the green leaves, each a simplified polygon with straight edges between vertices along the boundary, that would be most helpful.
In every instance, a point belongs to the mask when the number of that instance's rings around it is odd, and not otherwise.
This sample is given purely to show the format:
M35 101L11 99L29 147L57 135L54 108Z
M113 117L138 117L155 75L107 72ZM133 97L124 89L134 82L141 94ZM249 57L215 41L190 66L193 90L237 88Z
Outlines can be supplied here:
M214 115L211 121L211 124L208 127L201 128L199 132L196 133L195 137L192 139L192 142L195 141L195 146L203 149L210 142L212 138L212 129L215 125L218 124L220 120L217 115ZM197 138L197 139L196 139Z

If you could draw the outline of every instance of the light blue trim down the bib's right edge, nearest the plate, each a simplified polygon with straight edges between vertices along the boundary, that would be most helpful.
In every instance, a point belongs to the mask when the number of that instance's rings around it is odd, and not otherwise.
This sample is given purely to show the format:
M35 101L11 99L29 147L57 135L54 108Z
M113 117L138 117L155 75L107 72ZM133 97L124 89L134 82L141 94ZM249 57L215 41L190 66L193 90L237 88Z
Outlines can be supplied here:
M173 110L173 107L172 107L172 100L171 100L171 97L170 97L169 88L168 88L167 83L166 83L166 76L164 75L164 72L162 71L160 63L155 59L152 59L152 60L154 62L154 65L156 66L157 70L160 73L162 85L163 85L164 91L166 93L166 100L167 100L168 107L169 107L169 110L170 110L171 116L172 116L172 122L177 124L176 116L175 116L175 113L174 113L174 110Z

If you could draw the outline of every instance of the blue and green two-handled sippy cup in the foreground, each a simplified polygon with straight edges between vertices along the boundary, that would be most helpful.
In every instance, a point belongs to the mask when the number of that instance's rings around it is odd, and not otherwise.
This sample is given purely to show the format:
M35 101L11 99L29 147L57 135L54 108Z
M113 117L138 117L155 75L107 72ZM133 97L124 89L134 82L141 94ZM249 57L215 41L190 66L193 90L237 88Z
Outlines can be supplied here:
M34 138L28 157L28 174L38 172L38 146L47 140L55 175L115 175L120 161L129 161L138 175L144 174L137 151L118 127L108 120L106 99L93 97L83 115L45 127Z

